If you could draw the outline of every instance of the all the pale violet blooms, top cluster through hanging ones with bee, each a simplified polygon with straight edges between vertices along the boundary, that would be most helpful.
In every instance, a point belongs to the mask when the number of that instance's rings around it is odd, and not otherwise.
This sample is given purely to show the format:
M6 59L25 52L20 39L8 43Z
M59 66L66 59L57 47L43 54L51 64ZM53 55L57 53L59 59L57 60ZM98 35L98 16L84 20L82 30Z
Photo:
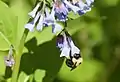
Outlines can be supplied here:
M29 31L42 31L43 27L52 27L52 33L58 33L57 47L60 49L60 57L65 57L66 64L72 69L76 68L82 62L80 49L73 43L69 33L58 22L66 22L70 12L83 15L91 11L94 0L43 0L38 2L34 9L28 13L32 20L25 24L25 28ZM49 5L48 5L49 4ZM51 7L52 6L52 7Z

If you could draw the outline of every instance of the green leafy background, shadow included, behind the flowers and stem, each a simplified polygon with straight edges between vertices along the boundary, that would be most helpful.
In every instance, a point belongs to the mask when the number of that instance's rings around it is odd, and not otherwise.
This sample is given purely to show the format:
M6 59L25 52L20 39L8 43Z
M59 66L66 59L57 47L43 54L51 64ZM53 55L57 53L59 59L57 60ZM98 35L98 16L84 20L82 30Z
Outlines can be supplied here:
M19 45L35 1L0 0L0 82L11 80L4 56L9 43ZM95 0L91 12L69 17L74 20L68 21L67 29L81 49L83 63L70 71L59 57L56 36L45 28L29 33L18 82L120 82L120 0Z

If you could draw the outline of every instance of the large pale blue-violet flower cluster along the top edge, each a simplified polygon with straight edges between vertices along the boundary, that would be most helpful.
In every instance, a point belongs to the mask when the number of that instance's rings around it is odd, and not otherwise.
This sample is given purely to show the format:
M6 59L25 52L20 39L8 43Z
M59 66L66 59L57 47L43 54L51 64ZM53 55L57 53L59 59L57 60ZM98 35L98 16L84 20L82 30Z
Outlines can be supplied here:
M83 15L91 10L94 0L86 0L84 3L82 0L54 0L52 3L52 9L47 6L47 3L38 2L35 8L28 13L32 21L25 25L29 31L34 31L34 27L38 31L42 31L44 26L52 26L52 32L60 32L63 28L57 21L65 22L68 18L70 11L75 14Z

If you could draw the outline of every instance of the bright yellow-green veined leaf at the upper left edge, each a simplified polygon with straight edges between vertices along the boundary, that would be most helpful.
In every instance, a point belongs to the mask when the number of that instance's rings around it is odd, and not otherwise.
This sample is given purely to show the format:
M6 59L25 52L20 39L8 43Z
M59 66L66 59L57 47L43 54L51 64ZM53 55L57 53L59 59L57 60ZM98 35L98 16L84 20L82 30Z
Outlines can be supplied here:
M17 20L10 8L0 1L0 50L6 50L15 43Z

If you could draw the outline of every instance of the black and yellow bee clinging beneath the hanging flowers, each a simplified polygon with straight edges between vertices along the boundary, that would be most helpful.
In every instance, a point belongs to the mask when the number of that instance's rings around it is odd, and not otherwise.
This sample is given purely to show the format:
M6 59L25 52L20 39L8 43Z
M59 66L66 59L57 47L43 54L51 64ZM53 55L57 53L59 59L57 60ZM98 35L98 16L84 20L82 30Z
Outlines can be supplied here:
M78 67L82 63L83 59L80 54L74 54L70 56L70 59L66 59L66 65L71 68L71 71Z

